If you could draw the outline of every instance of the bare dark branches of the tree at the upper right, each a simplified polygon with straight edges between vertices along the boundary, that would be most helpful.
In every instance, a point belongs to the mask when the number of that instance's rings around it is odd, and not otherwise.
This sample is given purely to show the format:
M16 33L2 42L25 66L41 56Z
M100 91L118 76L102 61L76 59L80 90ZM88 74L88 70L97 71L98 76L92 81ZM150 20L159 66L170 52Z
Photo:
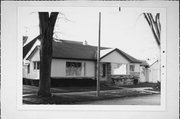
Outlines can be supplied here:
M160 23L160 13L157 13L155 17L151 13L143 13L146 21L148 22L151 31L154 35L156 43L160 48L161 45L161 23Z

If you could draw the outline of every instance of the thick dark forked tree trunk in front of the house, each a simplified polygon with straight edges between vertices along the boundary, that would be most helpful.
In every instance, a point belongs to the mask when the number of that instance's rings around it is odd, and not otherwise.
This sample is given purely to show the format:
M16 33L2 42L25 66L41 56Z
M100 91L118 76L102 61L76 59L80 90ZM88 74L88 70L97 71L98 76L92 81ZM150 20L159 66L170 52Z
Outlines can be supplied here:
M58 12L39 12L41 46L40 46L40 80L38 95L51 96L51 61L54 25Z

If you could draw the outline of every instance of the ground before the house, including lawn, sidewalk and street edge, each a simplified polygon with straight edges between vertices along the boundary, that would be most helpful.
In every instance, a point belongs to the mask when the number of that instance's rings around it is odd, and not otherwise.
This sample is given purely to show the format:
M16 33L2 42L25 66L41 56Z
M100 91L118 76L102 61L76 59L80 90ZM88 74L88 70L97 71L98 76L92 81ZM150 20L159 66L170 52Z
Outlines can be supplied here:
M100 96L96 96L96 87L59 87L51 88L52 97L42 98L37 96L38 87L23 86L23 103L24 104L90 104L99 103L100 101L109 100L105 104L111 104L110 100L120 100L125 97L147 96L152 94L160 94L159 91L153 91L152 87L112 87L102 86ZM150 96L149 96L150 97ZM150 98L147 98L149 100ZM154 100L154 101L153 101ZM160 104L160 96L152 98L149 103L141 104ZM119 101L116 101L117 103ZM132 101L129 102L131 104ZM135 101L136 102L136 101ZM154 102L154 103L153 103ZM159 102L159 103L157 103ZM137 104L139 104L137 102ZM104 103L103 103L104 104ZM118 103L121 104L121 103Z

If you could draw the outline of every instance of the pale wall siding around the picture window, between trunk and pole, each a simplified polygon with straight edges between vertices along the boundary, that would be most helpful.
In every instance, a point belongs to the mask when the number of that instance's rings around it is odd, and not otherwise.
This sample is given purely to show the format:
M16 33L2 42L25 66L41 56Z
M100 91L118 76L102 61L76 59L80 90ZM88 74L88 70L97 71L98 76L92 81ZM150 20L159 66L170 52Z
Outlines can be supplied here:
M80 77L94 77L95 75L95 63L93 61L52 59L52 65L51 65L52 78L72 77L72 76L66 76L66 62L82 63L82 72Z

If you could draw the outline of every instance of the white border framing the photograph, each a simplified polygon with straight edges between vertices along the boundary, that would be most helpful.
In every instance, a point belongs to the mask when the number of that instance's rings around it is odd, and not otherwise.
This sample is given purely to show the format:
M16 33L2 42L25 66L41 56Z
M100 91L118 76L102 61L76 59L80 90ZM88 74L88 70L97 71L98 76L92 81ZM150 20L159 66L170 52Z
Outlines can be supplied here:
M92 4L91 4L92 5ZM94 5L94 4L93 4ZM92 5L92 7L93 7ZM37 5L39 6L39 4ZM88 7L87 4L62 4L59 5L62 7ZM17 11L18 9L21 7L21 5L17 6ZM24 6L23 6L24 7ZM27 5L28 7L28 5ZM52 7L52 6L51 6ZM117 5L100 5L100 4L95 4L94 7L117 7ZM137 7L137 6L133 6L133 5L121 5L121 7ZM157 6L138 6L138 7L144 7L144 8L158 8ZM43 9L45 7L42 7L41 9ZM166 12L166 8L162 7L164 10L164 12ZM19 15L19 14L18 14ZM166 25L165 25L166 26ZM19 31L19 30L18 30ZM166 39L166 31L164 31L164 35L162 36L162 39L165 38ZM18 33L18 32L17 32ZM20 36L18 35L18 39L20 39ZM17 48L18 48L18 56L17 56L17 61L18 61L18 65L17 65L17 79L22 79L22 41L18 40L17 42ZM165 51L165 53L162 53L162 51ZM80 111L80 110L94 110L94 111L98 111L98 110L111 110L111 111L164 111L166 109L166 40L162 42L162 50L161 50L161 66L165 66L165 68L161 68L161 105L23 105L22 104L22 80L17 80L17 109L18 110L44 110L44 111L55 111L55 110L73 110L73 111ZM165 80L162 80L165 79ZM108 108L107 108L108 107Z

